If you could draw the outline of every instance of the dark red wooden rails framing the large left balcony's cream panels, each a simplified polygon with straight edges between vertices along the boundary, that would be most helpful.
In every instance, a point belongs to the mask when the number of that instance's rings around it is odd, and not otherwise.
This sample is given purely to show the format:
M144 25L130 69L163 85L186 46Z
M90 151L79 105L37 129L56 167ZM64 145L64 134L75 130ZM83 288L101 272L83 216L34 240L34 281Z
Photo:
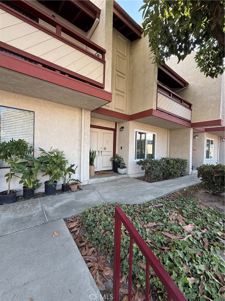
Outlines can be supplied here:
M13 16L19 18L20 20L36 27L37 29L43 31L44 33L47 33L48 35L52 36L53 38L58 39L61 42L73 47L74 49L77 49L77 50L83 52L84 54L88 55L89 57L94 58L96 61L101 62L104 66L103 67L104 68L103 83L97 82L97 81L95 81L93 79L90 79L86 76L82 76L79 73L73 72L73 71L68 70L66 68L63 68L63 67L60 67L57 64L48 62L48 61L46 61L46 60L44 60L40 57L37 57L37 56L35 56L33 54L30 54L26 51L15 48L15 47L13 47L9 44L0 42L0 48L2 50L8 51L9 53L12 53L12 54L19 55L20 57L29 59L30 61L41 64L44 67L50 67L50 68L52 68L52 70L57 70L57 72L59 71L59 73L61 72L63 74L72 75L76 79L82 80L84 82L88 82L88 83L96 85L100 88L105 87L105 63L106 63L105 53L106 53L106 50L104 48L102 48L101 46L99 46L99 45L95 44L94 42L90 41L89 39L82 36L81 34L77 33L75 30L71 29L70 27L68 27L64 23L62 23L59 20L55 19L54 17L52 17L51 15L49 15L46 12L42 11L41 9L39 9L38 7L36 7L35 5L33 5L32 3L28 2L28 1L17 0L17 1L11 1L11 2L15 3L17 6L19 6L22 9L28 11L29 13L35 15L36 17L40 18L41 20L45 21L49 25L55 27L56 32L53 32L52 30L44 27L43 25L29 19L25 15L19 13L18 11L15 11L13 8L10 8L9 6L5 5L4 3L0 3L0 8L3 9L4 11L6 11L7 13L12 14ZM102 57L98 57L94 53L92 53L92 52L80 47L79 45L76 45L75 43L71 42L70 40L64 38L61 35L61 32L67 34L68 36L72 37L73 39L77 40L78 42L81 42L83 45L86 45L88 48L91 48L92 50L98 52L99 54L101 54Z

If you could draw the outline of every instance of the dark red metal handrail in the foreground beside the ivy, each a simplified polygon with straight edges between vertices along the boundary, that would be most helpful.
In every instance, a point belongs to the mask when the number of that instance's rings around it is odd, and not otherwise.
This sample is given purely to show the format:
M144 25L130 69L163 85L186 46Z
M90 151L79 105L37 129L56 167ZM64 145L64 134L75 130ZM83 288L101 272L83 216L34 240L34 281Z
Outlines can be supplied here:
M167 301L187 301L179 290L170 275L161 265L157 257L152 253L146 242L140 236L134 225L120 208L115 207L115 232L114 232L114 264L113 264L113 300L119 301L120 287L120 250L121 250L121 222L130 234L130 255L129 255L129 280L128 280L128 301L131 301L132 284L132 261L133 261L133 241L146 258L146 291L145 300L149 301L149 266L152 267L159 280L167 290Z

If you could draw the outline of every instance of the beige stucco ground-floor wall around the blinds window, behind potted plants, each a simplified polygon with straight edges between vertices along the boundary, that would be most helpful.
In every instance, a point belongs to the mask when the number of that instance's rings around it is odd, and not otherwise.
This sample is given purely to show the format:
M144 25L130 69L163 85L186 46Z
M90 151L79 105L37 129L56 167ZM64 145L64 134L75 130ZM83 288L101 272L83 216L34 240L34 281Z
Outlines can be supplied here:
M51 147L63 150L69 163L78 165L75 177L83 178L83 183L87 184L89 179L90 111L83 110L82 114L81 109L5 91L1 91L0 104L6 107L34 111L35 157L39 155L38 147L46 151L49 151ZM84 135L85 141L83 155L81 153L81 135ZM0 169L1 191L7 189L4 179L7 172L8 169ZM41 173L38 178L42 182L38 191L43 191L44 181L48 178L42 178ZM22 190L19 179L14 177L11 183L11 189ZM62 181L58 184L61 183Z

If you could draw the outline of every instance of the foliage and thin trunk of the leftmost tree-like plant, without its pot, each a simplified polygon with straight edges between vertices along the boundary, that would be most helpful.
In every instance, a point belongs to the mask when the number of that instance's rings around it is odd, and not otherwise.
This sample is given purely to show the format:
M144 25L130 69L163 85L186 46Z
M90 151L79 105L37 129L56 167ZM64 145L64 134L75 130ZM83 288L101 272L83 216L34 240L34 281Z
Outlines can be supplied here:
M8 183L7 194L10 194L10 181L15 172L12 171L13 167L16 167L16 164L19 160L23 159L25 155L32 154L33 146L22 139L12 140L8 142L0 143L0 160L4 160L10 166L9 172L5 175L6 182Z

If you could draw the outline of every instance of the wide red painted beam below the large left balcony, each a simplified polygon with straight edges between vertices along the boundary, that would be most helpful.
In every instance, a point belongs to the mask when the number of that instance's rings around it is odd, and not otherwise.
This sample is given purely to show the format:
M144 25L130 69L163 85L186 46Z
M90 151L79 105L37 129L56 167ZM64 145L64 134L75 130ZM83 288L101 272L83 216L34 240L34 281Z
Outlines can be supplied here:
M74 91L92 95L108 102L112 101L112 93L110 92L84 82L80 82L77 79L57 73L56 71L32 64L28 61L24 61L18 57L14 57L4 52L0 53L0 66L38 79L42 79L46 82L51 82L55 85L72 89Z

